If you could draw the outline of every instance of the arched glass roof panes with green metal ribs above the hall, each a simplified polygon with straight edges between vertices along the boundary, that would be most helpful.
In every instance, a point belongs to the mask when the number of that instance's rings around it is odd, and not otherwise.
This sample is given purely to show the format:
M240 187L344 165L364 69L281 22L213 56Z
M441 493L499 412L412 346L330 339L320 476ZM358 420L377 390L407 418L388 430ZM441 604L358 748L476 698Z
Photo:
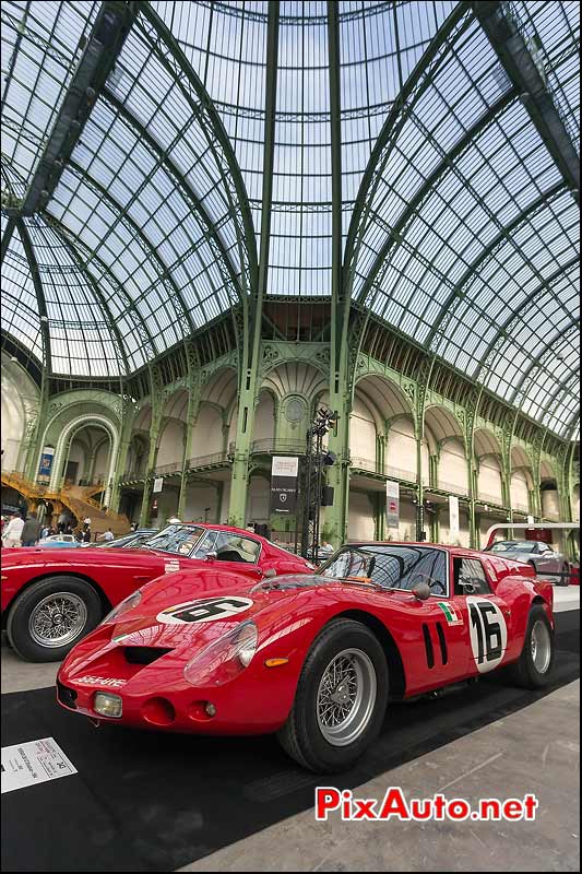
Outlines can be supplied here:
M503 7L537 47L579 152L579 4ZM569 436L579 405L569 380L579 369L574 192L468 4L336 8L348 293ZM136 4L48 200L19 213L102 12L81 0L2 3L2 328L55 374L132 373L246 300L275 71L266 292L331 294L321 0L281 2L276 57L266 0Z

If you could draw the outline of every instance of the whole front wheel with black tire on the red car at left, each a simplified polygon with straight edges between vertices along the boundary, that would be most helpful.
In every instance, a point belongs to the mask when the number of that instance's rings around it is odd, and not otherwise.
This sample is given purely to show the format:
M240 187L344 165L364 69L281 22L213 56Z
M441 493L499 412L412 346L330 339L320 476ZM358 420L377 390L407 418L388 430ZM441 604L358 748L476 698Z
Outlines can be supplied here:
M99 597L78 577L56 576L25 589L10 609L11 646L31 662L61 661L103 616Z

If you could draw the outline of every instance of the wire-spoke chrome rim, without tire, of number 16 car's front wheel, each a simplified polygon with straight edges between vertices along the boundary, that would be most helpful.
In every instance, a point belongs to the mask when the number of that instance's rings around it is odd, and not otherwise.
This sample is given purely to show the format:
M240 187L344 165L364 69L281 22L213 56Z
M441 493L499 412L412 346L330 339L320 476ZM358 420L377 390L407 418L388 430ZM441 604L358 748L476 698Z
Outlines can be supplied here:
M334 746L354 743L365 731L376 704L376 670L359 649L345 649L325 668L317 696L317 718Z

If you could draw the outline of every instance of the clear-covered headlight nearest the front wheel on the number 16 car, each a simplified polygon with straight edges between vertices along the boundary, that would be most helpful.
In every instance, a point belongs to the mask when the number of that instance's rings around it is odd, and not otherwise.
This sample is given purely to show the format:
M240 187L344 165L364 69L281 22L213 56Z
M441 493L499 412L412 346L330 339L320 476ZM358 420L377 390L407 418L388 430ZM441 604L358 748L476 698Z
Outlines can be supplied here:
M259 631L252 619L213 640L191 659L183 676L192 686L222 686L248 668L257 651Z

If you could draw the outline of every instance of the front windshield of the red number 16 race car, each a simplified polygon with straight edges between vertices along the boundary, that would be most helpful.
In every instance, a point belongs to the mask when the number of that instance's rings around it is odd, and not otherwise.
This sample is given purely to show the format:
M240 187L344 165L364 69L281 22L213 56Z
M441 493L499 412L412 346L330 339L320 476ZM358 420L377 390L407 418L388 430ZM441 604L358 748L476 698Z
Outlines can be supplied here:
M382 589L414 589L428 582L432 594L447 594L447 554L429 546L346 546L333 555L318 576L368 579Z

